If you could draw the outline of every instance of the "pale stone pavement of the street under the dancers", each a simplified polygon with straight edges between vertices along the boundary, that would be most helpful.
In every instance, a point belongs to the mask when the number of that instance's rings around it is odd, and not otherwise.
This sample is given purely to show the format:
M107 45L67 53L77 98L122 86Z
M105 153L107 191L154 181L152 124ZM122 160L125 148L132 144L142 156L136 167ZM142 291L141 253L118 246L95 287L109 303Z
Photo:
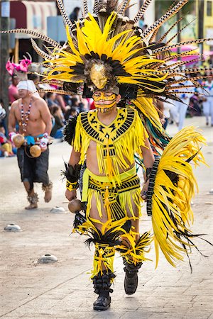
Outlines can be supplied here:
M209 143L203 152L212 164L213 128L204 126L204 118L186 119L204 130ZM170 125L171 135L177 129ZM133 296L124 293L124 271L121 258L115 259L116 280L111 308L99 313L92 310L97 298L89 282L92 251L84 247L84 237L70 235L73 216L70 213L50 213L53 206L67 209L64 184L60 181L63 158L69 158L70 147L65 143L50 147L50 177L54 183L53 201L44 203L40 197L36 211L25 211L26 194L20 182L16 158L0 159L1 176L1 313L0 318L172 318L213 319L212 255L213 248L202 240L195 240L202 254L193 250L190 259L193 272L185 260L177 268L171 267L161 256L158 269L155 262L146 262L139 272L138 290ZM207 233L213 242L213 167L198 167L195 175L200 193L192 208L195 213L195 233ZM151 228L151 220L143 208L141 232ZM20 233L4 231L8 223L17 223ZM58 257L54 264L38 264L37 259L50 253ZM152 249L149 257L155 260Z

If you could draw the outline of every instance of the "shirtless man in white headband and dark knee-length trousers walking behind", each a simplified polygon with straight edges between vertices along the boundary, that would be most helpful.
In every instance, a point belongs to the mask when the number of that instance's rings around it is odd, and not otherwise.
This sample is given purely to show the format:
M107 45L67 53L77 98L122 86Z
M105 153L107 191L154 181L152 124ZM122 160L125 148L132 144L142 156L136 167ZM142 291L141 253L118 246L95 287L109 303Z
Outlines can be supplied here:
M38 194L33 189L33 183L43 184L45 202L52 197L53 184L48 177L48 136L52 129L50 111L43 99L33 94L36 91L32 81L21 81L17 85L20 99L14 101L9 113L9 135L11 140L18 133L24 136L25 142L18 148L18 167L21 172L21 181L28 194L29 206L26 209L38 208ZM39 145L41 154L32 157L30 147Z

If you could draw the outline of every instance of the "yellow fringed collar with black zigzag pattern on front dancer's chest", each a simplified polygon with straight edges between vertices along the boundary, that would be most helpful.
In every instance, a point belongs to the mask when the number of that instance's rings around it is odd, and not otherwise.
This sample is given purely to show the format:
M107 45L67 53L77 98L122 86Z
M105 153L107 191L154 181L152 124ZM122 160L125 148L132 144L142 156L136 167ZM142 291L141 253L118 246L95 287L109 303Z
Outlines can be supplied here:
M97 117L97 111L80 113L75 128L74 149L81 153L84 163L89 142L97 142L99 174L109 177L115 186L121 184L119 168L124 171L134 164L134 153L142 157L141 146L148 138L138 112L132 108L117 108L117 116L110 125L104 125Z

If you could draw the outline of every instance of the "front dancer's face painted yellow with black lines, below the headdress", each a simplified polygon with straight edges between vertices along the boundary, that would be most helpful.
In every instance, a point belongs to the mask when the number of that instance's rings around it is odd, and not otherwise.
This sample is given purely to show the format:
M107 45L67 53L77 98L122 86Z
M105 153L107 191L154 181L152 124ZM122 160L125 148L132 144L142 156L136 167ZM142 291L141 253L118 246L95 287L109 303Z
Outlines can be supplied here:
M116 94L113 92L95 91L92 97L95 108L101 113L108 112L116 105Z

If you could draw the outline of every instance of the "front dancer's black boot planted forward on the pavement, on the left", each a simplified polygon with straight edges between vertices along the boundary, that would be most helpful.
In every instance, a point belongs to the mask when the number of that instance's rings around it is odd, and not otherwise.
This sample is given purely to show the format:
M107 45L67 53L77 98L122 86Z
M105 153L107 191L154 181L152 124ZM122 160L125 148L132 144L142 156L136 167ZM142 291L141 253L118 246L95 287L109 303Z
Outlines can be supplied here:
M112 293L113 290L110 289L111 279L113 279L115 275L112 272L107 273L104 270L103 274L99 272L97 276L94 276L92 281L94 284L94 292L99 296L96 301L93 303L94 310L107 310L110 307L111 297L109 293Z

